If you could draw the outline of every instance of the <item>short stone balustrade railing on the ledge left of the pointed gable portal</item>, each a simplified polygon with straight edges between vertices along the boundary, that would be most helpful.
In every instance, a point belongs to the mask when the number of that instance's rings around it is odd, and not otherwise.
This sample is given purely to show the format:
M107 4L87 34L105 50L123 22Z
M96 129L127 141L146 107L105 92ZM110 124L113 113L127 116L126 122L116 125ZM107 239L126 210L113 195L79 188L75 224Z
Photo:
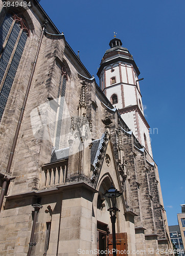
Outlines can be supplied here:
M49 163L42 166L41 187L49 187L65 183L67 161Z

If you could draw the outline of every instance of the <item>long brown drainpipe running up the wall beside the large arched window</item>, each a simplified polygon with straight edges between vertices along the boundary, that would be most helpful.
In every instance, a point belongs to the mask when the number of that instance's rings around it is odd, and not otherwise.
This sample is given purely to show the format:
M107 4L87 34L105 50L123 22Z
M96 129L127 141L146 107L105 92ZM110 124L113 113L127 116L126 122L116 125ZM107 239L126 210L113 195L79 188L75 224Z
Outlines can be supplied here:
M15 131L15 136L14 136L14 139L13 139L13 144L12 144L11 153L10 153L10 157L9 157L9 160L8 160L7 171L6 171L5 176L10 176L9 174L10 174L10 169L11 169L11 166L12 166L12 160L13 160L13 156L14 156L14 152L15 152L17 138L18 138L19 131L20 131L20 125L21 125L22 118L23 118L23 115L24 115L24 112L25 112L25 107L26 107L26 103L27 103L27 99L28 99L31 83L32 83L32 80L33 80L33 75L34 75L34 72L35 72L35 67L36 67L36 63L37 63L37 59L38 59L38 54L39 54L39 51L40 51L40 47L41 47L41 43L42 43L42 38L43 38L43 34L44 34L44 30L46 28L46 25L47 25L47 20L45 20L45 23L42 26L42 33L41 33L41 36L40 36L40 41L39 41L39 45L38 45L38 48L37 48L37 53L36 53L36 56L35 56L35 60L33 62L33 68L32 68L32 72L31 72L31 75L30 75L29 82L28 82L27 91L26 91L26 94L25 94L24 102L22 104L19 120L18 120L18 123L17 123L16 131ZM8 189L7 183L8 183L9 180L10 179L6 178L6 179L4 179L4 182L3 182L1 196L0 196L0 212L1 212L1 209L2 209L2 205L3 205L5 191L6 191L6 189Z

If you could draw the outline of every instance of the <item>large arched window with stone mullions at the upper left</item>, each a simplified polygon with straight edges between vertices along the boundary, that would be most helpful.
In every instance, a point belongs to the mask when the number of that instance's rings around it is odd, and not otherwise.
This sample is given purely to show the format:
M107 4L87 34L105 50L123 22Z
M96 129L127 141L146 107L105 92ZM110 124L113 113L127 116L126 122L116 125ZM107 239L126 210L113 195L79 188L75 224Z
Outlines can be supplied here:
M28 36L22 18L7 14L0 27L0 122Z

